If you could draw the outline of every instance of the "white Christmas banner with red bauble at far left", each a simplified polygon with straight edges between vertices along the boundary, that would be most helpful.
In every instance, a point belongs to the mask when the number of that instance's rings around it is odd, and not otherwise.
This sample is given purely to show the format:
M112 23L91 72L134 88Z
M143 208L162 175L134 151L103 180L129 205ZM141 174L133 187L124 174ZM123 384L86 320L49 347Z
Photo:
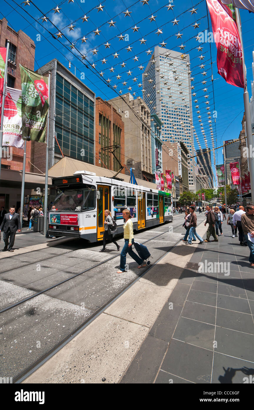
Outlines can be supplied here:
M24 141L22 139L21 129L21 90L6 87L4 99L2 146L24 149Z

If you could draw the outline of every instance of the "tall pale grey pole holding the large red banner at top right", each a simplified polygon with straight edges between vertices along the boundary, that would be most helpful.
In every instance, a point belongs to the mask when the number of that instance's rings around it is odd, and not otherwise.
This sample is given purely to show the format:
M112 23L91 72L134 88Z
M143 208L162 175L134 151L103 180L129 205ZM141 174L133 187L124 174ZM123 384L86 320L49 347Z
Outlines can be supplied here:
M237 7L235 7L235 12L236 12L236 24L237 24L237 28L238 28L238 32L239 32L240 40L241 40L241 46L242 46L242 67L243 67L243 80L244 80L243 102L244 102L245 123L246 123L246 139L247 139L246 145L249 150L248 157L250 158L250 187L251 187L251 192L252 192L252 198L254 198L254 167L253 167L252 157L250 156L250 153L252 153L252 149L250 148L254 146L253 137L252 137L251 115L250 115L250 99L249 99L249 93L247 90L247 78L246 78L246 71L245 71L241 21L240 21L239 10Z

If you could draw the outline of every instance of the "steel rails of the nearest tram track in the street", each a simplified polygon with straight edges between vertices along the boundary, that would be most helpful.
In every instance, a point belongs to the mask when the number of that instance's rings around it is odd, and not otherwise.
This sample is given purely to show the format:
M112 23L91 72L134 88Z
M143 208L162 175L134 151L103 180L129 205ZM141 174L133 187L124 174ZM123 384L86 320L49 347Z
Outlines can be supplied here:
M180 225L176 225L174 226L174 229L178 229L180 228L180 226L182 226L182 223ZM160 238L162 235L165 235L167 231L164 231L162 233L160 233L159 235L155 235L152 238L147 239L146 241L142 242L143 244L147 244L150 241L153 240L157 240L157 238ZM179 240L176 241L176 243L171 246L166 252L163 253L162 256L160 256L159 258L157 258L154 262L154 264L157 264L162 257L164 257L166 255L166 253L169 253L170 251L172 251L172 249L179 243ZM22 304L25 304L26 302L36 298L37 296L40 296L41 294L45 294L47 291L49 291L50 289L53 289L55 287L58 287L60 285L62 285L65 282L68 282L70 280L73 280L74 278L76 278L77 276L82 275L83 273L86 273L88 271L92 271L92 269L98 267L98 266L103 266L104 264L106 264L106 262L109 262L113 259L115 259L116 257L119 257L119 254L117 255L113 255L110 258L107 258L106 260L99 262L79 273L76 273L75 275L71 276L70 278L67 278L61 282L56 283L55 285L52 285L50 287L47 287L46 289L43 289L40 292L36 292L35 294L32 294L30 296L28 296L27 298L24 298L20 301L17 301L16 303L13 303L7 307L5 307L4 309L2 309L0 311L0 313L4 314L4 312L7 312L9 310L11 310L12 308L18 307ZM34 263L34 262L33 262ZM152 265L152 266L153 266ZM76 326L75 328L73 328L67 335L65 335L65 337L63 337L59 342L57 342L56 344L54 344L54 346L52 346L52 348L48 349L45 353L43 353L43 355L41 355L37 360L35 360L34 362L32 362L31 364L29 364L29 366L25 367L21 372L19 372L16 376L13 377L13 383L21 383L22 380L25 380L25 378L27 378L30 374L32 374L36 369L38 369L38 367L40 367L43 363L45 363L50 357L52 357L57 351L59 351L63 346L65 346L65 344L67 344L68 342L70 342L70 340L72 340L81 330L83 330L86 326L88 326L94 319L96 319L104 310L106 310L106 308L108 306L110 306L114 301L117 300L117 298L119 298L124 292L126 292L126 290L131 287L135 282L137 282L137 280L139 280L142 276L144 276L145 273L147 273L147 271L150 269L150 267L148 269L145 269L145 271L142 274L139 274L137 276L137 278L135 278L135 280L132 280L126 287L124 287L124 289L121 289L117 294L115 294L114 297L112 297L111 299L109 299L106 303L104 303L96 312L94 312L93 314L90 315L90 317L88 317L87 319L85 319L82 323L79 323L78 326Z

